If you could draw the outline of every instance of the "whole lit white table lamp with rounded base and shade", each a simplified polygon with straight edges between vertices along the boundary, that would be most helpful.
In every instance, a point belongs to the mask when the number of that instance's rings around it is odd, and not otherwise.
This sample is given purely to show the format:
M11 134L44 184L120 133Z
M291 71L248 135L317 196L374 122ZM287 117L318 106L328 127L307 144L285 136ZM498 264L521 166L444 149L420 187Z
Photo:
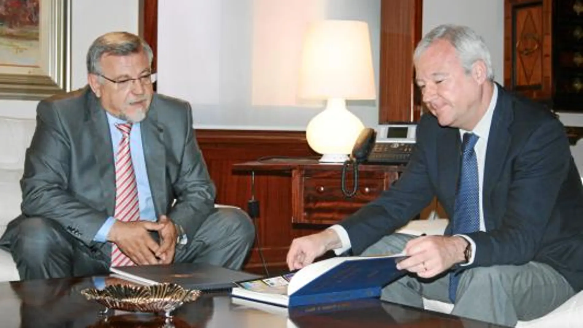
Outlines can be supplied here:
M364 128L346 100L375 98L368 24L324 20L311 24L301 55L299 96L325 99L326 108L308 123L310 147L321 162L343 162Z

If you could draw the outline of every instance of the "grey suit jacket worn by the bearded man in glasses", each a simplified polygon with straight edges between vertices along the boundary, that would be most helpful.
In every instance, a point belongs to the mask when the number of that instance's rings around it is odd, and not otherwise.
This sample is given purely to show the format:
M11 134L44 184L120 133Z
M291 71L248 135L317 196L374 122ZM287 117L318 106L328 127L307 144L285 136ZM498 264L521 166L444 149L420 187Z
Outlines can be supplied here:
M141 129L156 216L166 214L192 237L213 209L215 186L196 143L191 108L154 94ZM20 220L45 217L96 246L94 236L114 213L115 168L106 111L89 87L38 104L20 184L23 216L2 239L10 239Z

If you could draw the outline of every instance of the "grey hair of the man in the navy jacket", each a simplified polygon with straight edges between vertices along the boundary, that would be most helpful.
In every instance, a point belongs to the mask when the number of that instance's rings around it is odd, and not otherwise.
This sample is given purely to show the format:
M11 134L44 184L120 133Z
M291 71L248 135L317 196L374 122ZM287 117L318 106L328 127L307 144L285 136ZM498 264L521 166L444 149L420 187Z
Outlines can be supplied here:
M413 61L419 59L434 41L440 39L449 41L455 48L466 74L472 71L472 65L476 61L482 60L486 64L487 79L494 80L490 50L486 47L484 39L467 26L443 24L435 27L417 44L413 53Z

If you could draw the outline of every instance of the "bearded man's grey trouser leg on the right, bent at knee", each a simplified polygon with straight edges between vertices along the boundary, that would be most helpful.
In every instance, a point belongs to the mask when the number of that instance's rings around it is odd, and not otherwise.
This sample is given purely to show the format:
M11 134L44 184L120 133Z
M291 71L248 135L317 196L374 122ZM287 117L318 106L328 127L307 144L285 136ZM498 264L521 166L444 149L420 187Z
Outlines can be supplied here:
M210 263L238 270L253 244L254 225L241 209L215 209L192 240L177 246L174 262Z

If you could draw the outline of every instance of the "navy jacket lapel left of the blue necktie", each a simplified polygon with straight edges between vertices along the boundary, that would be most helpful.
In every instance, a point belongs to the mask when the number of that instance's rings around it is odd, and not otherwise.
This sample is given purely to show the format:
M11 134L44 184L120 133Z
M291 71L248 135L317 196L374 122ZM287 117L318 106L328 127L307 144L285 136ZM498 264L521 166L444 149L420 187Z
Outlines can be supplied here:
M455 191L459 174L459 129L442 128L437 139L438 186L444 193L443 206L454 214Z

